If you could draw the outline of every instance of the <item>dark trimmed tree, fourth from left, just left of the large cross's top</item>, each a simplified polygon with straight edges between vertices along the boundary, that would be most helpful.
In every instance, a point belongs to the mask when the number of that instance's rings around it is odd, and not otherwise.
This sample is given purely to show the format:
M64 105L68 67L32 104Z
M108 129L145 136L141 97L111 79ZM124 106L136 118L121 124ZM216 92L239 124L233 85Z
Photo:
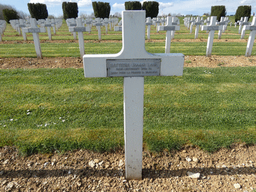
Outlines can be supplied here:
M92 3L92 8L93 8L93 12L95 17L100 17L100 18L109 18L109 14L110 14L110 5L109 3L103 3L103 2L96 2L93 1Z

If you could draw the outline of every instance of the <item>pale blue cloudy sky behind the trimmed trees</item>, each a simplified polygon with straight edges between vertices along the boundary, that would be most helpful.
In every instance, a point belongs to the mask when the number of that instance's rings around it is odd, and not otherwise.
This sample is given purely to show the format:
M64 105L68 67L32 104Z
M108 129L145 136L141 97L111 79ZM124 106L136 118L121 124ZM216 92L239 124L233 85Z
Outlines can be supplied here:
M63 1L76 2L79 11L78 16L80 14L90 15L93 13L91 0L0 0L0 4L11 5L17 11L22 11L30 15L28 11L28 3L44 3L47 6L48 15L58 17L63 15L61 7ZM110 4L110 15L113 15L116 12L121 13L125 10L125 1L108 0L102 2L108 2ZM143 1L141 1L141 3L142 2ZM237 7L241 5L251 5L252 14L253 12L256 12L256 0L159 0L157 2L159 3L159 15L168 15L168 13L171 13L171 15L204 15L204 13L211 13L211 6L216 5L224 5L227 10L227 15L235 15Z

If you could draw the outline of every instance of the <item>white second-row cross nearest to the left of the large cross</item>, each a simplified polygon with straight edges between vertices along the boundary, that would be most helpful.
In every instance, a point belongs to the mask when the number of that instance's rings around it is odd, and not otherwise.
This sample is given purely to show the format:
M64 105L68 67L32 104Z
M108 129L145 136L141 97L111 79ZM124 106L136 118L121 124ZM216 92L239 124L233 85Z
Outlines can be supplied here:
M83 58L84 56L84 35L83 32L90 31L90 27L84 27L82 24L81 17L77 17L77 27L70 27L69 32L78 33L78 41L79 41L79 50L80 50L80 56Z

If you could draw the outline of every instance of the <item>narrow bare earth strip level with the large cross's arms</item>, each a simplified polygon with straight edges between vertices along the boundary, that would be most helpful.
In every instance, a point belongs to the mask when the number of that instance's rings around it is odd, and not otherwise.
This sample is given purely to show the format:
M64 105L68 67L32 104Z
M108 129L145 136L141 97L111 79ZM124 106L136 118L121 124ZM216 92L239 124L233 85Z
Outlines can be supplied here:
M184 67L256 66L256 56L185 56ZM82 68L81 58L1 58L0 68Z

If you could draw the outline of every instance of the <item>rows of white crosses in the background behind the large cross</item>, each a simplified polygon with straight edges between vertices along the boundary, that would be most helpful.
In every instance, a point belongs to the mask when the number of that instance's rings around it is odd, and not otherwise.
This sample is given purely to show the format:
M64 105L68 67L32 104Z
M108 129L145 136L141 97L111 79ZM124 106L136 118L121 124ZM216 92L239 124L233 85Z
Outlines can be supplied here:
M55 24L52 24L49 22L49 20L45 20L45 23L43 23L43 21L41 22L36 22L35 19L31 19L33 20L32 23L35 24L30 24L31 27L30 28L24 28L24 25L22 24L22 20L20 20L21 24L17 24L17 21L15 22L15 26L16 28L22 28L24 29L24 33L33 33L33 39L35 42L35 49L36 49L36 55L38 58L42 58L42 51L40 48L40 42L39 42L39 37L38 37L38 33L42 33L42 32L46 32L45 28L37 28L37 24L40 23L41 26L43 27L47 27L48 29L48 35L49 35L49 39L51 39L51 29L49 29L51 26L53 27ZM180 26L178 26L179 22L177 22L179 19L175 18L175 17L167 17L166 20L161 20L162 21L162 25L164 24L164 22L166 22L166 26L157 26L157 31L166 31L166 45L165 45L165 53L170 53L170 44L171 44L171 40L174 36L175 31L180 29ZM104 20L103 20L104 21ZM111 21L109 20L105 20L106 22L106 28L108 28L108 24L111 24ZM207 26L202 26L202 21L199 20L199 17L196 19L195 22L190 22L191 26L195 25L196 26L196 31L195 31L195 38L196 36L198 36L198 31L199 31L199 26L201 26L202 31L209 31L209 36L208 36L208 40L207 40L207 49L206 49L206 56L211 56L211 52L212 52L212 44L213 44L213 39L214 39L214 32L215 31L219 31L219 38L221 36L221 32L225 30L225 24L227 24L228 19L225 19L223 17L221 17L221 21L220 22L216 22L216 17L211 17L211 19L207 19ZM30 21L31 23L31 21ZM81 57L83 57L84 55L84 38L83 38L83 32L88 31L90 33L91 31L91 25L96 26L96 28L98 29L98 35L99 35L99 39L101 39L101 29L100 27L104 24L104 22L102 22L102 20L100 21L100 19L95 19L94 22L92 22L92 20L82 20L81 18L77 17L77 19L70 19L67 21L69 30L70 32L74 33L74 36L76 35L76 33L78 33L79 36L79 49L80 49L80 55ZM117 23L117 21L115 22L115 24ZM160 22L155 22L155 24L159 24ZM87 25L86 27L84 27L84 25ZM145 25L147 25L147 38L150 39L150 26L154 24L154 22L152 22L152 20L150 18L147 18ZM246 22L243 22L243 24L247 24ZM73 27L72 27L73 26ZM120 30L122 26L118 26L118 29ZM254 43L254 39L255 39L255 17L253 17L253 22L250 26L244 26L243 27L243 32L242 35L244 35L244 31L246 30L250 30L250 36L248 39L248 45L246 47L246 54L245 56L250 56L252 54L252 47L253 47L253 43ZM253 32L254 31L254 32ZM34 35L35 34L35 35ZM36 35L37 34L37 35Z

